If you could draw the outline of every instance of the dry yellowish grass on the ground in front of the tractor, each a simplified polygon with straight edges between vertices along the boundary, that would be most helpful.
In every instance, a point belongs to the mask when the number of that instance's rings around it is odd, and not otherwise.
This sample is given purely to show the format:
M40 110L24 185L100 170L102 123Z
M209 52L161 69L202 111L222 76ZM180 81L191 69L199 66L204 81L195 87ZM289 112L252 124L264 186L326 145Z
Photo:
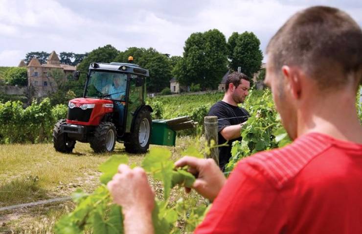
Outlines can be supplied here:
M191 137L178 138L177 146L169 147L173 160L180 158L182 149L193 141L195 139ZM124 153L123 145L116 143L112 154ZM92 192L100 185L97 168L109 156L94 154L89 144L80 142L77 142L72 154L57 153L52 144L0 145L0 207L67 196L77 188ZM128 156L130 165L140 165L144 157ZM151 186L161 198L161 183L151 181ZM182 188L174 189L171 203L182 194ZM189 196L199 195L192 193ZM0 211L0 234L52 233L56 220L73 208L74 204L67 201Z

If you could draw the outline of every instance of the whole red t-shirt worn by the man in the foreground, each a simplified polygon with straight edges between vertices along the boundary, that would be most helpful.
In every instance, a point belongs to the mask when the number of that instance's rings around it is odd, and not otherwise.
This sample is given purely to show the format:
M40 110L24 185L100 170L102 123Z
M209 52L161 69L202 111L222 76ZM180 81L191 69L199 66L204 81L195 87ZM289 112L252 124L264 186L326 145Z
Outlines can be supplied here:
M362 234L362 144L311 133L240 161L195 233Z

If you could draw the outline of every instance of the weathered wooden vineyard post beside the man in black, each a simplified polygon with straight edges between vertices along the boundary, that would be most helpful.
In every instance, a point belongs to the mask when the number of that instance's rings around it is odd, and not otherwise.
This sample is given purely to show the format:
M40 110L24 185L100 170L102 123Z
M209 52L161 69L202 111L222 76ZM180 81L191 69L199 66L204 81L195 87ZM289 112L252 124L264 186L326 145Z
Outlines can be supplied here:
M210 141L214 140L214 147L210 149L210 155L205 153L205 158L212 158L215 160L216 164L219 165L219 149L218 149L218 117L216 116L206 116L204 117L204 126L205 126L205 138L207 145L210 145Z

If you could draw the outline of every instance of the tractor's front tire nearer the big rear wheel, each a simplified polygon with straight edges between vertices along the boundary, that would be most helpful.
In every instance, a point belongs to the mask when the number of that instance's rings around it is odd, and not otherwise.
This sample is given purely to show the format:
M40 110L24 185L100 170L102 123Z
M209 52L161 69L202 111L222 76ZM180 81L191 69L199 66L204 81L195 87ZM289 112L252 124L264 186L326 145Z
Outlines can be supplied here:
M109 153L114 150L116 131L111 122L101 122L94 131L91 148L95 153Z

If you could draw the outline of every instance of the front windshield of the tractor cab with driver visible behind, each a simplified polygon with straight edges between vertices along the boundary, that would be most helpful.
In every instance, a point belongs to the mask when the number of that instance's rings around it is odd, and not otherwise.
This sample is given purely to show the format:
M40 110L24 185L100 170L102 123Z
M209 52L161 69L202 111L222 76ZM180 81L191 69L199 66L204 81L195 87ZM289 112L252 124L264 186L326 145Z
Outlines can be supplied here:
M126 73L92 70L87 84L86 97L124 101L126 88Z

